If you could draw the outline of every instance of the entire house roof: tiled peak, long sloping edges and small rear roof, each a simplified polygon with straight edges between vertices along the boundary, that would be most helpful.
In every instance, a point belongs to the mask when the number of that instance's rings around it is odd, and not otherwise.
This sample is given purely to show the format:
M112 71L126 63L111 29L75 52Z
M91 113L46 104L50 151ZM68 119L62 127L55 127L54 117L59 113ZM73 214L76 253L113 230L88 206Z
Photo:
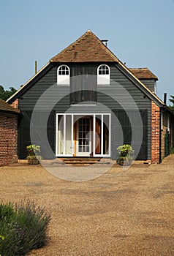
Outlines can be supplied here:
M102 41L88 30L83 36L69 45L67 48L58 53L55 57L50 59L48 64L45 67L37 72L28 82L26 82L20 89L12 95L7 102L12 103L15 99L18 99L23 92L30 89L37 79L45 75L45 72L48 72L48 69L51 69L56 62L113 62L113 64L121 67L122 71L125 72L126 76L129 76L130 79L133 79L133 82L137 84L140 89L143 89L144 93L154 100L159 106L164 106L162 99L156 96L140 79L149 79L153 78L158 80L156 75L154 75L148 68L140 69L129 69L125 66L103 43Z

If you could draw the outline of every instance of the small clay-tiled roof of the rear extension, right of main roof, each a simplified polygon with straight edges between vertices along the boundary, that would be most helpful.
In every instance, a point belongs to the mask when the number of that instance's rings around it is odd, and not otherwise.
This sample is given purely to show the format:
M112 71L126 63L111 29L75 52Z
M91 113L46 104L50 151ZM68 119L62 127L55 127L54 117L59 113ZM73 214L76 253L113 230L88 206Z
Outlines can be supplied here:
M154 75L147 67L142 67L142 68L137 68L137 69L129 68L129 70L138 79L154 79L154 80L158 80L156 75Z

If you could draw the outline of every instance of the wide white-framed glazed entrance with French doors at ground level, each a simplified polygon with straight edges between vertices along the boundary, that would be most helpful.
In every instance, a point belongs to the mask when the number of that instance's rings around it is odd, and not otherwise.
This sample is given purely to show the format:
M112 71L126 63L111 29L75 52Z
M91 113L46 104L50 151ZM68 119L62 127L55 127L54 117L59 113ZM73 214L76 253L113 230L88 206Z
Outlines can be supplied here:
M110 113L56 114L56 157L110 157Z

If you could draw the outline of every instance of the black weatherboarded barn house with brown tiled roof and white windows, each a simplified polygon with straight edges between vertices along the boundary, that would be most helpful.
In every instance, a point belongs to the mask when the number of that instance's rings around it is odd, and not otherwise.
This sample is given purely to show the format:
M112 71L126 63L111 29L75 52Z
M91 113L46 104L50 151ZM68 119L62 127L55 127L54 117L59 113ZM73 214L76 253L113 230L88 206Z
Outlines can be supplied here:
M21 113L18 157L32 143L44 159L116 159L130 144L136 159L161 162L173 148L173 112L156 96L157 80L86 31L7 100Z

